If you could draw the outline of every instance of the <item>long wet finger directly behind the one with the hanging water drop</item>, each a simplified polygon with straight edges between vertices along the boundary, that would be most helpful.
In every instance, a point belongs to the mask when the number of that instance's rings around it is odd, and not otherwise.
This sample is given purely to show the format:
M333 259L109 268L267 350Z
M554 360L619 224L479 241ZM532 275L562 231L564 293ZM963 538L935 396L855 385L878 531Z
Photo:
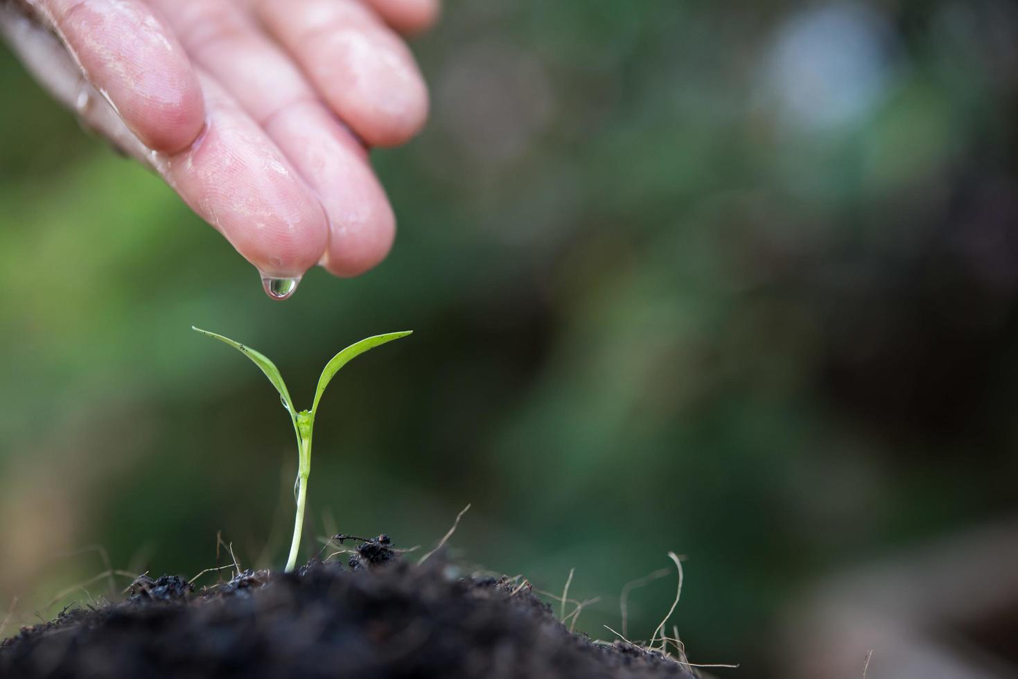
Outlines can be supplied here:
M156 0L199 66L210 72L293 163L329 220L323 266L338 276L388 253L395 218L366 152L315 95L278 45L232 3Z

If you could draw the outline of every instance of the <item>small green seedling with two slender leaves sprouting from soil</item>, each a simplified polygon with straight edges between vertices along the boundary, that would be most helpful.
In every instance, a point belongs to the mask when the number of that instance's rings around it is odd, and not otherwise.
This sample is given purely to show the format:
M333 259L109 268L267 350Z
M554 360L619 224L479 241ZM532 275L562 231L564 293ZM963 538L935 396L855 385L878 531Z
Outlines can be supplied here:
M279 392L279 397L283 401L283 407L285 407L286 411L290 413L290 419L293 420L293 431L297 435L297 454L299 456L299 462L297 465L297 480L293 489L297 501L297 516L293 522L293 542L290 543L290 558L286 562L286 572L290 572L297 564L297 549L300 547L300 533L304 525L304 505L307 502L307 476L310 474L312 470L312 433L315 429L315 415L318 412L318 406L322 401L322 394L325 392L325 388L329 386L329 382L336 375L336 373L339 372L339 369L348 363L354 357L359 356L369 349L374 349L381 344L385 344L386 342L391 342L392 340L399 339L400 337L406 337L412 331L408 330L400 333L389 333L387 335L369 337L367 339L362 339L355 344L351 344L337 353L332 357L332 360L326 363L325 370L322 371L322 377L319 378L318 389L315 390L315 402L312 404L312 409L300 410L298 412L297 409L293 407L293 401L290 399L290 392L286 389L286 383L283 382L283 377L279 374L279 369L277 369L276 364L269 360L264 354L256 351L249 346L245 346L239 342L234 342L229 337L223 337L222 335L217 335L216 333L210 333L208 330L202 330L201 328L195 328L194 326L191 326L191 329L202 333L203 335L207 335L208 337L218 339L220 342L229 344L234 349L250 358L256 365L262 369L265 376L269 378L269 382L271 382L272 386Z

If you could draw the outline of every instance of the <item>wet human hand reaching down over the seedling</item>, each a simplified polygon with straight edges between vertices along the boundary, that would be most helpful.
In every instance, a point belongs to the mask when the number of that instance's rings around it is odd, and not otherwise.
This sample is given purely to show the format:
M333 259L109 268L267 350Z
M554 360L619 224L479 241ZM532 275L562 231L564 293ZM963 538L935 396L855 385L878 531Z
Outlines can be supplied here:
M438 2L0 0L0 31L263 277L354 276L395 234L367 148L406 142L428 113L398 34Z

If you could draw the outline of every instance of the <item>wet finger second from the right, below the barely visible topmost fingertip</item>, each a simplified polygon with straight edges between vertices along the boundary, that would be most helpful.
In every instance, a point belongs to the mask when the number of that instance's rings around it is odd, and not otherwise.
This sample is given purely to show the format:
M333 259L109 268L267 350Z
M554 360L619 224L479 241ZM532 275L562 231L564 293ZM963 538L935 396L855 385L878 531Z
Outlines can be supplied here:
M409 49L356 0L258 0L263 23L329 106L372 146L409 139L428 117L428 90Z

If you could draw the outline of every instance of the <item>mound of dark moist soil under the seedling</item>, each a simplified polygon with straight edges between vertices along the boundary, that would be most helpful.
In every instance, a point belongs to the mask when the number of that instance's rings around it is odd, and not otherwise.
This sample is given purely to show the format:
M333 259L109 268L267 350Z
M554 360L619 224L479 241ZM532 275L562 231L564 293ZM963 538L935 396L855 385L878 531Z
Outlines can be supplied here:
M693 677L624 641L571 634L529 585L461 577L380 536L349 564L245 571L194 591L142 576L128 598L74 608L0 643L0 677L636 679Z

